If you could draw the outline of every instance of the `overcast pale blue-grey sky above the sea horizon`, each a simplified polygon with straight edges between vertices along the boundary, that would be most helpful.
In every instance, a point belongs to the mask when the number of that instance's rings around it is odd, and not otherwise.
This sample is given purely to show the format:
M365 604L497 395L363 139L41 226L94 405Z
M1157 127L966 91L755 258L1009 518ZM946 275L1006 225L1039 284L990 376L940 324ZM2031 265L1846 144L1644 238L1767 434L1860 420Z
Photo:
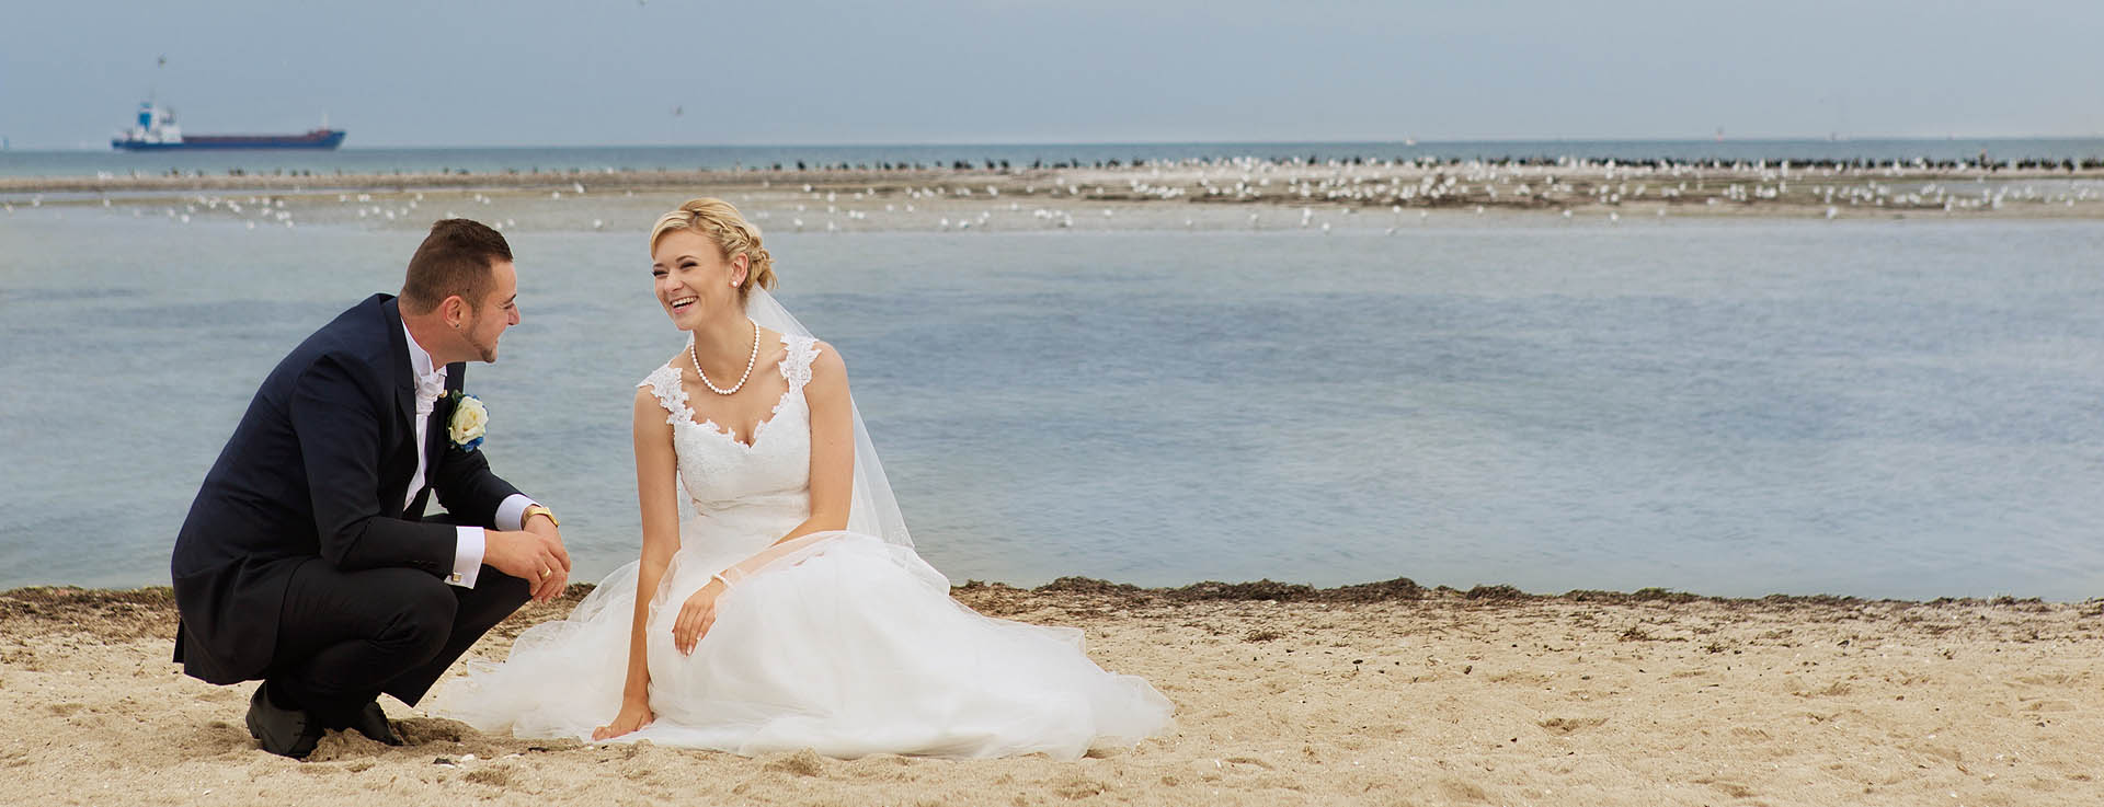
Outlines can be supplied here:
M2100 137L2098 32L2098 0L0 0L0 137L103 149L149 92L347 147Z

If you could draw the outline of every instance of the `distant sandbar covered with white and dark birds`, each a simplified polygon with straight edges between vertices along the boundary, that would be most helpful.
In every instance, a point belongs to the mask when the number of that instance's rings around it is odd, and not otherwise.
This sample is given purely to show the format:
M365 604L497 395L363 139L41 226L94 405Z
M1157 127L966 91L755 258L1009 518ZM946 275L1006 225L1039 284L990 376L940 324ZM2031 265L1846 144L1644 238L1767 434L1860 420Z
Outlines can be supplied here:
M2104 219L2104 166L1187 160L1067 168L509 170L0 177L0 206L114 206L189 223L621 229L696 193L766 231L1397 229L1433 216Z

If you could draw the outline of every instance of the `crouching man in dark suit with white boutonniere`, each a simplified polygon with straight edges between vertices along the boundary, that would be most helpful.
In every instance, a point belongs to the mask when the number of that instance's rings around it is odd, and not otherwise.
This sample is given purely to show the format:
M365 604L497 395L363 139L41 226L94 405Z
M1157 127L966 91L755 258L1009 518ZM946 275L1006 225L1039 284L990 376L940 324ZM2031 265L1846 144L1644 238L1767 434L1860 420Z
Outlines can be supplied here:
M379 694L417 704L454 658L570 572L555 517L490 473L467 359L520 322L511 248L431 225L402 296L375 294L263 380L175 538L175 660L263 679L248 731L307 757L326 729L400 744ZM438 494L446 515L425 517Z

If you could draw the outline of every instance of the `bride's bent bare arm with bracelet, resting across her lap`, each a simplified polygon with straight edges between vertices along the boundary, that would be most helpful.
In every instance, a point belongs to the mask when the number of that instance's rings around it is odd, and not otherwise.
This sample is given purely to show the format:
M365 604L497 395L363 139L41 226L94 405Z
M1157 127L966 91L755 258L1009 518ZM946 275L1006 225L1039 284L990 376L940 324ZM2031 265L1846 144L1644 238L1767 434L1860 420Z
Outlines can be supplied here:
M730 591L730 582L743 580L808 544L797 538L848 527L848 506L854 500L854 404L848 395L848 366L827 343L818 343L818 357L810 364L804 401L810 406L810 517L768 549L720 572L715 580L688 597L671 630L673 647L682 654L692 654L701 637L709 633L709 624L715 622L715 597Z

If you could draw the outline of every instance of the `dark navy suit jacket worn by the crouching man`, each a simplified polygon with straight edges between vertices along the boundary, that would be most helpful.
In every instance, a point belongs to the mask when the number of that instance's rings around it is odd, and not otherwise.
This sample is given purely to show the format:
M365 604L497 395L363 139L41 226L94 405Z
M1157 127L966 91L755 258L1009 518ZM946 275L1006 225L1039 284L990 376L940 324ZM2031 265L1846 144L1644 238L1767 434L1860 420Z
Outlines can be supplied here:
M461 389L465 364L446 368ZM446 439L440 397L425 441L427 492L461 523L490 523L518 488L482 452ZM452 574L457 527L404 509L417 473L417 380L396 298L375 294L307 336L257 389L175 538L175 660L210 683L259 679L278 643L292 570L412 567Z

